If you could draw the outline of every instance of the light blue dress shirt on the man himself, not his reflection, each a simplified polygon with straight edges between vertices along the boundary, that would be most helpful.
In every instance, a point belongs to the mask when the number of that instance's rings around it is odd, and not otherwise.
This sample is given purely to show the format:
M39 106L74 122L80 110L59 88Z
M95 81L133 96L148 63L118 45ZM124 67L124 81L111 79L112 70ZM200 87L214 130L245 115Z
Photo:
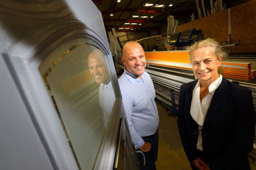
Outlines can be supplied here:
M140 79L124 70L118 81L132 141L138 149L144 144L141 137L154 134L158 128L154 85L146 72Z

